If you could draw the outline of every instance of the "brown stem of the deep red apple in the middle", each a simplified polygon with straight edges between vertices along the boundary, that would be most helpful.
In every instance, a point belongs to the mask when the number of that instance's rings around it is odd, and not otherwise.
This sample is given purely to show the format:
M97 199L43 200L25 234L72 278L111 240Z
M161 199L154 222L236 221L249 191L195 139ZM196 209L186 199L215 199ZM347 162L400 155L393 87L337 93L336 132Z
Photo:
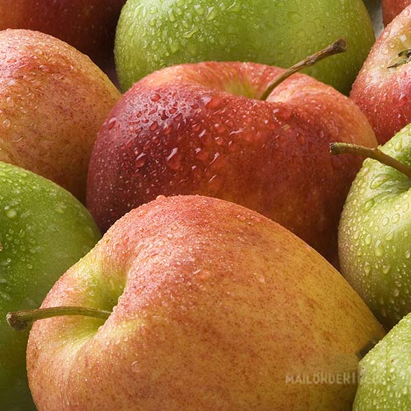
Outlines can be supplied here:
M316 53L309 55L304 60L301 60L301 62L294 64L294 66L291 66L290 69L287 69L282 74L280 74L269 85L269 87L266 88L266 90L264 91L261 97L261 100L266 100L269 97L269 95L271 95L271 92L273 92L273 90L280 83L284 82L285 79L290 77L290 75L297 73L297 71L307 69L307 67L314 66L314 64L316 64L320 60L323 60L324 58L329 57L330 55L343 53L346 50L347 50L347 42L345 41L344 38L338 38L338 40L334 41L331 45L325 47L325 49L322 49L321 51L317 51Z

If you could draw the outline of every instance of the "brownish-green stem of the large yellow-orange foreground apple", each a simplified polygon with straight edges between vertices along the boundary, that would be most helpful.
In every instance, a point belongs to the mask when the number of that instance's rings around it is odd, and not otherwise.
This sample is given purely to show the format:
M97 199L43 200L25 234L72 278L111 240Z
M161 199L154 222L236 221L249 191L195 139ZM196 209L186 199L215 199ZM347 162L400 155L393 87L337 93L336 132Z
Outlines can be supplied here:
M8 312L5 316L10 327L18 331L23 331L29 325L32 325L34 321L49 319L55 316L63 315L84 315L91 316L97 319L108 319L110 311L98 310L97 308L85 308L85 307L51 307L51 308L38 308L37 310L21 310Z

